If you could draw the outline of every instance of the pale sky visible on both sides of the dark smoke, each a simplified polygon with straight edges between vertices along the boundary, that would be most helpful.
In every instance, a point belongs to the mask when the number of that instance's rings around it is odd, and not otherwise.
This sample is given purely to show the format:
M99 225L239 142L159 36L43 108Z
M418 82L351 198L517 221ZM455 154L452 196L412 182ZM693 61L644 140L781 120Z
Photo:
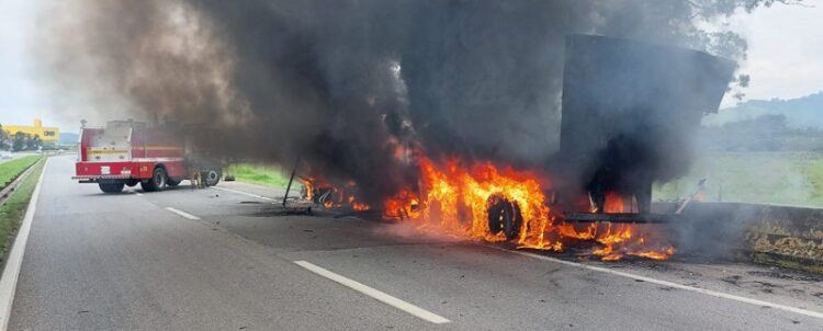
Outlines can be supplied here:
M41 117L44 125L77 132L79 118L61 122L54 115L59 110L52 101L59 95L41 87L44 70L29 52L42 1L0 0L0 124ZM721 22L748 41L742 64L752 76L746 99L791 99L823 90L823 0L804 2L808 7L778 4ZM735 102L725 98L722 106Z

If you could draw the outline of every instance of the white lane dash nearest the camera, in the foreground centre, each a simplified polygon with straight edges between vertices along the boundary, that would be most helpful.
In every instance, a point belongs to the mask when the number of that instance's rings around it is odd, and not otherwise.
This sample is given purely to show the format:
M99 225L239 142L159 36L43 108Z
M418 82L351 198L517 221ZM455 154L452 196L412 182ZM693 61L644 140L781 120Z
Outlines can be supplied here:
M306 261L294 261L295 264L305 267L306 270L318 274L320 276L324 276L326 278L329 278L331 281L337 282L338 284L349 287L353 290L357 290L359 293L362 293L364 295L368 295L374 299L377 299L379 301L386 304L388 306L392 306L394 308L397 308L399 310L403 310L405 312L408 312L410 315L414 315L422 320L432 322L435 324L443 324L450 322L450 320L446 319L444 317L441 317L439 315L436 315L431 311L428 311L426 309L422 309L420 307L417 307L415 305L412 305L409 303L406 303L404 300L401 300L398 298L395 298L391 295L387 295L379 289L369 287L367 285L363 285L362 283L359 283L353 279L349 279L347 277L343 277L341 275L338 275L336 273L332 273L328 270L325 270L320 266L314 265Z

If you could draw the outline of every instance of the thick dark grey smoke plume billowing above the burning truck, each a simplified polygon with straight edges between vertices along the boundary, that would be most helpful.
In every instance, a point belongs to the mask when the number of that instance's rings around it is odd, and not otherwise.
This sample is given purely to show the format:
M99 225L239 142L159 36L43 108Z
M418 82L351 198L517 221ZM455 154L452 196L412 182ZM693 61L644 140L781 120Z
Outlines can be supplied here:
M374 202L414 179L397 146L542 164L567 34L742 58L735 34L696 27L734 10L714 2L70 0L44 16L36 50L92 118L202 125L213 153L301 156Z

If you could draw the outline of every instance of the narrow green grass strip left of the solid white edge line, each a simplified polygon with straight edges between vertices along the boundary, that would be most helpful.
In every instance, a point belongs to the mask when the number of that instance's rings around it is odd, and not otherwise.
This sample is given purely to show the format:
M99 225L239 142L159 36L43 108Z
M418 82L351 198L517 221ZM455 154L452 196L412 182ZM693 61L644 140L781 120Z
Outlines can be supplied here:
M36 160L41 157L37 156ZM35 160L35 161L36 161ZM15 160L16 161L16 160ZM40 174L43 172L43 164L40 162L34 166L34 170L26 176L22 183L11 193L9 199L0 207L0 259L5 260L5 253L18 233L20 224L23 221L25 210L29 207L29 201L32 198L34 187L37 186ZM3 166L3 164L0 164Z

